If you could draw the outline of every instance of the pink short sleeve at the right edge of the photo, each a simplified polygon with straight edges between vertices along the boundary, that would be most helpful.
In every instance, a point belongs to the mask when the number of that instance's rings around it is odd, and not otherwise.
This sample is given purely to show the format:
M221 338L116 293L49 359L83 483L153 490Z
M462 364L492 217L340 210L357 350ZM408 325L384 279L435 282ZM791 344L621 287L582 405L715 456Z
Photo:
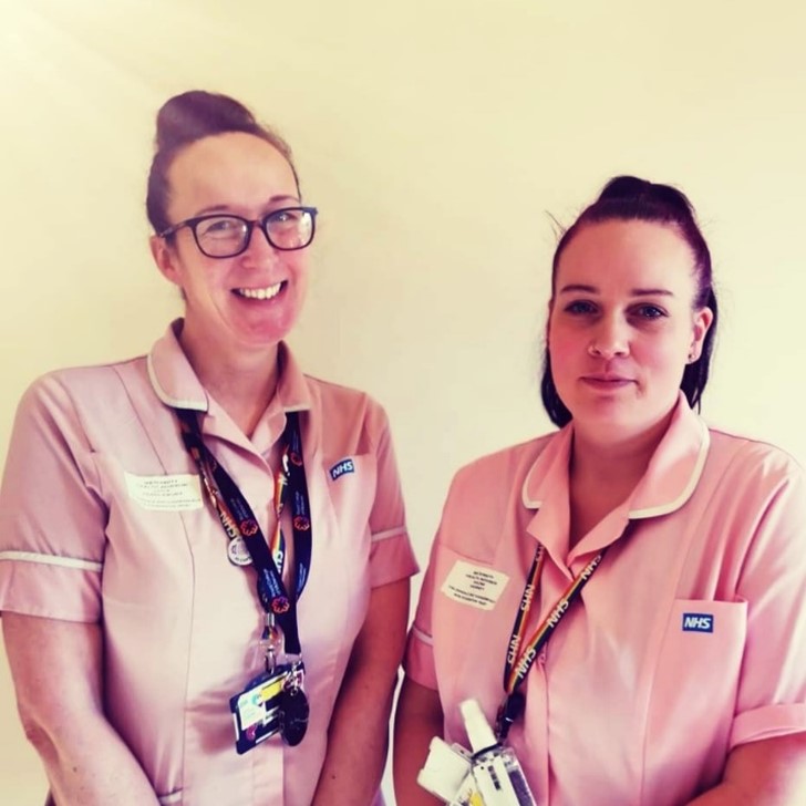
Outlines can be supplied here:
M782 476L765 495L737 587L747 640L731 747L806 731L806 479L790 461Z

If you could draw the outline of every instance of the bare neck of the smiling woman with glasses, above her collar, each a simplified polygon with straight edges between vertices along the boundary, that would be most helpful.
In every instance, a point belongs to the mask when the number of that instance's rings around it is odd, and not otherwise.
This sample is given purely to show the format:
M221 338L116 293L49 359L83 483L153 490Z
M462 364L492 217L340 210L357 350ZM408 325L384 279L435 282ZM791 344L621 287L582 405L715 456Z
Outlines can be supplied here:
M187 324L179 333L179 343L205 390L251 436L277 390L278 345L228 349L198 338Z

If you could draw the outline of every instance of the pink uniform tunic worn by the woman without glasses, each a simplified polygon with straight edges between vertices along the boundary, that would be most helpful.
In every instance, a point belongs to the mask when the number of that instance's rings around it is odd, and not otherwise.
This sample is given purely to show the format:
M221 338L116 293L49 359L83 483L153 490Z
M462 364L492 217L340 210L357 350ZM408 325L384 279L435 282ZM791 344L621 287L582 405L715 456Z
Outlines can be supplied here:
M406 672L493 721L536 546L527 637L610 546L525 683L509 743L541 806L680 806L731 748L806 731L806 483L783 452L681 400L631 497L568 549L574 427L482 458L451 488ZM624 527L632 526L627 534Z

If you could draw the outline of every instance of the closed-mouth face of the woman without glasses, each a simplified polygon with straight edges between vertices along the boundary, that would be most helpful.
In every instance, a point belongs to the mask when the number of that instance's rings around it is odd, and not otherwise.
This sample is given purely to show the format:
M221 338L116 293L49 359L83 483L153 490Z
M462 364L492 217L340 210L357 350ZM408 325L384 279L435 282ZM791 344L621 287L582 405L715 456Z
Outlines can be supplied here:
M548 322L557 392L597 441L660 426L712 321L693 309L691 248L671 226L583 226L560 255Z

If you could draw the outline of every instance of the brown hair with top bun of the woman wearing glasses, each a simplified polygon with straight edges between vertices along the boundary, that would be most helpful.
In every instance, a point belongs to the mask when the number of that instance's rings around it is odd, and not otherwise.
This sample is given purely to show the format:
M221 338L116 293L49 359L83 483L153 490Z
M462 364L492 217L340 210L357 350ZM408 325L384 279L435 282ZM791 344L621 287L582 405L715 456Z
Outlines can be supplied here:
M146 213L154 231L170 226L167 208L170 195L168 169L176 155L203 137L229 132L244 132L265 140L282 154L291 166L299 193L299 177L293 166L291 148L279 134L265 126L244 104L228 95L192 90L166 101L157 113L156 153L148 173Z

